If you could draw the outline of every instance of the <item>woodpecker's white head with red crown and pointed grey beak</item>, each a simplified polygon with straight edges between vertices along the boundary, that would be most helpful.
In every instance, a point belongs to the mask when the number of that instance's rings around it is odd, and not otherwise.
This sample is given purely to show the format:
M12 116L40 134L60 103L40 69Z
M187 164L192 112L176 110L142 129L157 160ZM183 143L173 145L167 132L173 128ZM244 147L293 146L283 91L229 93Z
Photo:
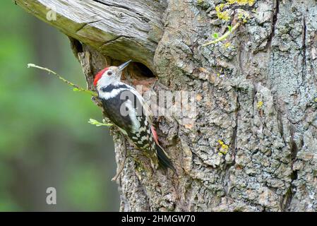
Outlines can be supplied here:
M108 85L118 83L121 78L122 71L131 63L132 60L126 61L126 63L120 66L110 66L105 68L95 76L94 85L99 92L101 88L105 88Z

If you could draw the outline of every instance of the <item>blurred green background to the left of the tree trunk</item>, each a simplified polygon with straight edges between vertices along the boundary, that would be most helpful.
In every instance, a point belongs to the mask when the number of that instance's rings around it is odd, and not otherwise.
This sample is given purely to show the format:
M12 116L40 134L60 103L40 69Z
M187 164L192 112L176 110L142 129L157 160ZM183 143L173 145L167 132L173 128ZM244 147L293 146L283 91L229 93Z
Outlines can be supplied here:
M0 211L119 209L114 145L84 93L28 63L85 87L66 35L16 6L0 7ZM47 187L57 204L47 205Z

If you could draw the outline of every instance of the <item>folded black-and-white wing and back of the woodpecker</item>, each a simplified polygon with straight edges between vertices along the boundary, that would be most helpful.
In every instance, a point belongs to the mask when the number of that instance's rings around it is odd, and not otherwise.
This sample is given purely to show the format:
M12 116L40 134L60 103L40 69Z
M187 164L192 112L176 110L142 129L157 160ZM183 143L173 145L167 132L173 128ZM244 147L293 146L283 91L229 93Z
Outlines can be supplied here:
M100 90L104 113L121 131L143 150L152 162L158 164L156 144L153 138L150 117L144 109L144 100L134 88L124 85Z

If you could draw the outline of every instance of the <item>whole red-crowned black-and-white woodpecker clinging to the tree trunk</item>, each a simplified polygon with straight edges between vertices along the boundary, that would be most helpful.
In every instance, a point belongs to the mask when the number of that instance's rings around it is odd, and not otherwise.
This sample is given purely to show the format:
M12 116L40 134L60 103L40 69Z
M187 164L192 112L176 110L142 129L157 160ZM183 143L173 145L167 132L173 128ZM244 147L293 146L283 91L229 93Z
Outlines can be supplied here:
M125 136L151 160L152 167L170 168L176 172L165 150L160 146L152 113L145 100L131 85L122 83L121 73L131 60L98 72L94 79L104 114Z

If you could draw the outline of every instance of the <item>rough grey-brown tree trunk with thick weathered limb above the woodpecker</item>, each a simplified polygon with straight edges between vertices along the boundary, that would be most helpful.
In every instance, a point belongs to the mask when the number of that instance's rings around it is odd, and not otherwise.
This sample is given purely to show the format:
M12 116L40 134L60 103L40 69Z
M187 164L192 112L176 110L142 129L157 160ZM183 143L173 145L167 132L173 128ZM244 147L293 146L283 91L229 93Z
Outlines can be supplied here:
M231 23L215 11L224 0L16 2L71 37L91 89L105 64L133 59L126 81L197 92L194 124L179 124L178 115L155 120L179 177L153 172L129 150L120 210L317 210L316 1L225 6L231 20L241 9L250 18L229 46L207 47ZM56 20L47 20L47 7ZM120 165L129 143L112 133Z

